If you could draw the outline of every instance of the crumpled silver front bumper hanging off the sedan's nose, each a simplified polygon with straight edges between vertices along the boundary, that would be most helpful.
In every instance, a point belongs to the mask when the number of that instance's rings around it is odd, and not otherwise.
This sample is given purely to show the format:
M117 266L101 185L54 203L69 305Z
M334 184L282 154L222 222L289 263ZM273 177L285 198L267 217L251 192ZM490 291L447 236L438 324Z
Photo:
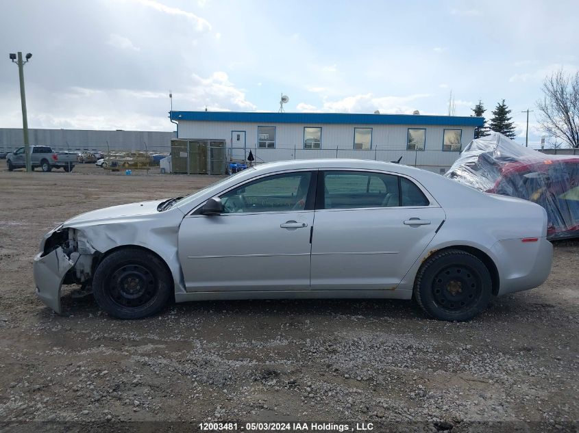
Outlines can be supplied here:
M56 248L45 256L39 252L34 257L34 283L36 294L47 306L61 313L60 308L60 287L66 272L75 265L79 254L73 253L71 257L66 256L62 248Z

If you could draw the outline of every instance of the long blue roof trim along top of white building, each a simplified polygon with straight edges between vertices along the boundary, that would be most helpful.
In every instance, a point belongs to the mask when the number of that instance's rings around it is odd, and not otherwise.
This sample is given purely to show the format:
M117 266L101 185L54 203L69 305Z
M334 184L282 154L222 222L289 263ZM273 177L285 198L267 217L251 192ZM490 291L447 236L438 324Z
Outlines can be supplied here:
M301 124L420 124L482 127L484 118L471 116L422 116L420 114L258 113L237 111L171 111L171 120Z

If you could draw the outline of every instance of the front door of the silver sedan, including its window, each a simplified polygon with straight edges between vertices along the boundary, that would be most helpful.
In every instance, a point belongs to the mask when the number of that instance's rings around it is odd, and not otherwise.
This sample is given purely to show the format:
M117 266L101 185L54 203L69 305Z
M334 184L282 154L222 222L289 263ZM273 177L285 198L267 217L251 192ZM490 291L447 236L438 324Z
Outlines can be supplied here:
M315 172L273 174L221 194L221 215L187 215L187 291L309 290Z

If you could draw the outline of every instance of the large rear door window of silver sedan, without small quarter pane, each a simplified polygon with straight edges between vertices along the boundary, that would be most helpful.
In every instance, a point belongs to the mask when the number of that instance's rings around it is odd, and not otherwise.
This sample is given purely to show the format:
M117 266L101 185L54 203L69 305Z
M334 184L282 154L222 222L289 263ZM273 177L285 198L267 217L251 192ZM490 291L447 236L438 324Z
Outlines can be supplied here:
M399 206L398 180L392 174L324 172L325 209Z

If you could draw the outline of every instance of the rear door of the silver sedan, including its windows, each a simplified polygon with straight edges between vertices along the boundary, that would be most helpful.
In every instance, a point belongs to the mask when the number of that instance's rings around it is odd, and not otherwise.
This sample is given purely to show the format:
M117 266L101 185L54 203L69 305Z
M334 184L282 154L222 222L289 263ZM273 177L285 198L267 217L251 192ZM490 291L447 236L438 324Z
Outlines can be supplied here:
M445 219L412 179L323 171L312 234L312 290L394 289Z

